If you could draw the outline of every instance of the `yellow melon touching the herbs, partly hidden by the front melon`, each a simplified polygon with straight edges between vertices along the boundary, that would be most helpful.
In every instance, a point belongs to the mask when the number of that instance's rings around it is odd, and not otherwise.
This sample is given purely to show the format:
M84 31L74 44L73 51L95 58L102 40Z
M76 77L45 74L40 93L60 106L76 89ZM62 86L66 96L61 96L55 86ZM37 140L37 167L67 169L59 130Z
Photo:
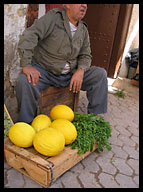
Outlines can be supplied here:
M71 144L77 137L77 130L69 120L56 119L51 123L51 127L63 133L66 145Z

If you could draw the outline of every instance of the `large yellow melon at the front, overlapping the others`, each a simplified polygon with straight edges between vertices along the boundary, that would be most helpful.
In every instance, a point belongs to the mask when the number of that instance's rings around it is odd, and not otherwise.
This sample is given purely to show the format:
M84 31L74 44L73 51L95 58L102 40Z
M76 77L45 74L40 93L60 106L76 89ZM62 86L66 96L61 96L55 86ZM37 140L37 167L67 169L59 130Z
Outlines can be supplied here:
M42 155L55 156L63 151L65 138L60 131L49 127L36 133L33 146Z

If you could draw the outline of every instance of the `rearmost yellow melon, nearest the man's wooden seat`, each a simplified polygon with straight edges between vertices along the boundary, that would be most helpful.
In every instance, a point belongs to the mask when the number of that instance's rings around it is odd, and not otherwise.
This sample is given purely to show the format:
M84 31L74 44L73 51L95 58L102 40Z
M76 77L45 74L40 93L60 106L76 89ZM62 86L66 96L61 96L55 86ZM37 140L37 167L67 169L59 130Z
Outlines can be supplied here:
M74 112L67 105L56 105L51 109L50 117L53 119L67 119L72 121L74 119Z

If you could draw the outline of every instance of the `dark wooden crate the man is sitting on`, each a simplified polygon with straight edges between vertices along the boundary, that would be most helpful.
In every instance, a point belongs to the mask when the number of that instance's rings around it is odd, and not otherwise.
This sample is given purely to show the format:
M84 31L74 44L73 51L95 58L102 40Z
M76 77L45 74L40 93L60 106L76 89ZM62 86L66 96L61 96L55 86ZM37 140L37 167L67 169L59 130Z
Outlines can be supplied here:
M38 99L37 114L46 114L49 116L49 112L55 105L64 104L69 106L73 111L76 111L78 106L79 93L73 93L69 91L69 87L57 88L49 87L41 92Z

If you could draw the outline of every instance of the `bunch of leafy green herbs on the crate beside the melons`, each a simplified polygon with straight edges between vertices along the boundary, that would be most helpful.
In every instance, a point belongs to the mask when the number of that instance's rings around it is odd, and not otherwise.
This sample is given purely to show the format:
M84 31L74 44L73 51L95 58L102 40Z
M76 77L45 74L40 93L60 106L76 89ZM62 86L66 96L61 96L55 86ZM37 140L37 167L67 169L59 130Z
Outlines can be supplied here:
M111 136L111 127L109 122L104 120L104 117L97 117L94 114L74 113L72 122L77 129L77 138L70 145L72 149L78 149L78 154L93 151L93 146L96 143L99 151L103 152L104 147L111 150L108 142Z

